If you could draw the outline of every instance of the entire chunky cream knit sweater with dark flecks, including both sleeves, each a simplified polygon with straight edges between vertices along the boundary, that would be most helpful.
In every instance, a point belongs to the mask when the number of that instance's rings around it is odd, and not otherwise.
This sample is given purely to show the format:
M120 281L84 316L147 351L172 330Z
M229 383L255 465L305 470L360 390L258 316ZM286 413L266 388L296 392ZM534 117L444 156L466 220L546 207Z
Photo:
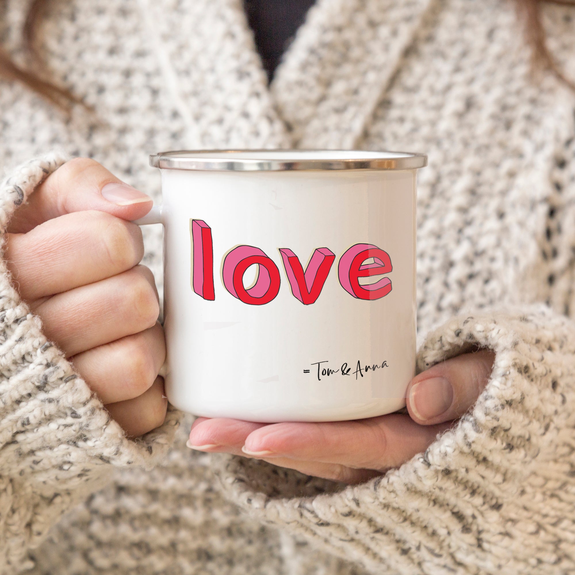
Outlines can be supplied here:
M27 5L0 3L16 57ZM575 78L575 9L545 17ZM427 152L419 369L477 346L496 359L477 405L424 454L344 488L191 453L175 411L125 439L2 262L2 572L574 573L575 97L530 74L512 3L319 0L270 89L240 0L52 2L44 36L55 81L95 114L66 118L0 83L0 232L64 161L54 150L156 198L159 150ZM159 282L160 233L147 230L144 260Z

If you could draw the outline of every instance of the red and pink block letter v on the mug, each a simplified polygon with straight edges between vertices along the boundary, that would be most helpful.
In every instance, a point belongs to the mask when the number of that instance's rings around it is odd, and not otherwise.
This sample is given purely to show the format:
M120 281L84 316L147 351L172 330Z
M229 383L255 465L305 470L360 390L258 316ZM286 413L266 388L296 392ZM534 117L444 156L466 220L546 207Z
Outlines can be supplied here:
M294 297L304 305L313 304L323 289L335 254L328 248L317 248L304 274L300 260L292 250L281 248L279 253L282 255L283 267Z

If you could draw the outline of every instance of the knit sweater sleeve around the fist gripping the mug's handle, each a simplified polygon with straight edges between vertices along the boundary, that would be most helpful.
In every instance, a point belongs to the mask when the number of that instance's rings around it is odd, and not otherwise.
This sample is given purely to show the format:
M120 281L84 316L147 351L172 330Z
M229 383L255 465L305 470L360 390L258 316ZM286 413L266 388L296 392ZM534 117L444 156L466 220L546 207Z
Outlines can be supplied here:
M32 160L0 184L0 238L17 207L66 161ZM117 466L150 466L171 443L177 412L138 440L119 425L62 352L48 342L0 261L0 572L29 567L26 552Z

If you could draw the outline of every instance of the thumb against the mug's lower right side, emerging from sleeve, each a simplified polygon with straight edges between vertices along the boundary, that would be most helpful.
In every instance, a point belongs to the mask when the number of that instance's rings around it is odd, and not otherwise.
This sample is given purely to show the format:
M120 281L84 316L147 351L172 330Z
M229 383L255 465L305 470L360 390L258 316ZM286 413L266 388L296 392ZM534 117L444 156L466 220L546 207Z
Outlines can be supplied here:
M407 409L417 423L432 425L461 417L485 389L495 355L480 350L438 363L416 375L407 388Z

